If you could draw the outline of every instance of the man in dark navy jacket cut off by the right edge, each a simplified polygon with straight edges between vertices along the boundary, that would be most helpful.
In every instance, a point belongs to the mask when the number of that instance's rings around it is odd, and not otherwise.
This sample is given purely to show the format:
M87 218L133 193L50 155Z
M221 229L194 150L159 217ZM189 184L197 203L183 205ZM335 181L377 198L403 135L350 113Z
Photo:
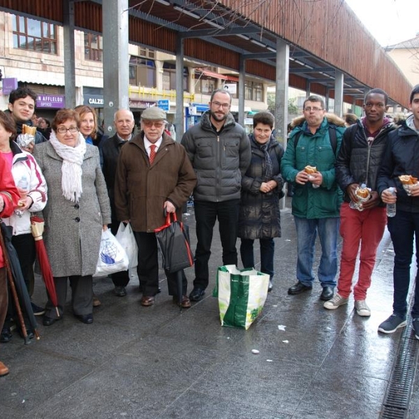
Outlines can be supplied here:
M377 190L383 202L396 203L395 216L388 218L388 230L395 250L393 313L379 325L378 332L382 333L392 333L406 325L413 240L416 240L416 252L419 247L419 184L416 179L416 185L411 187L408 194L399 179L401 175L419 177L419 84L411 91L409 108L413 115L390 134L378 172ZM390 187L397 188L396 195L389 191ZM411 316L416 339L419 339L419 271L416 272Z

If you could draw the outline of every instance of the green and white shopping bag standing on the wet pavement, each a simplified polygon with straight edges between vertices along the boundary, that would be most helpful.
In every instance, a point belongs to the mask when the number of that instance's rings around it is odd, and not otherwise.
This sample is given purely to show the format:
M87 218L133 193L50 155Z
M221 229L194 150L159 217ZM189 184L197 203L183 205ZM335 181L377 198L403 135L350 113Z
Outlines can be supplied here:
M235 265L221 266L212 295L219 299L221 325L249 329L262 312L269 275Z

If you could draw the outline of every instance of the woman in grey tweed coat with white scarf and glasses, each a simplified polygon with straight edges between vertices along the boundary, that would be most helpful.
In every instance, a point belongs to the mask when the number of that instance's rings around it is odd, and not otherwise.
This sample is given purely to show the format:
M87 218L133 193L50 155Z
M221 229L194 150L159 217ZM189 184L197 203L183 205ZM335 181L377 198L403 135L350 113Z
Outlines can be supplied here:
M43 210L43 239L57 290L59 316L49 300L43 325L61 320L71 284L73 314L83 323L93 322L93 279L102 230L110 223L110 205L97 147L86 144L80 117L72 109L57 112L50 141L36 146L38 161L48 186ZM38 147L39 146L39 147Z

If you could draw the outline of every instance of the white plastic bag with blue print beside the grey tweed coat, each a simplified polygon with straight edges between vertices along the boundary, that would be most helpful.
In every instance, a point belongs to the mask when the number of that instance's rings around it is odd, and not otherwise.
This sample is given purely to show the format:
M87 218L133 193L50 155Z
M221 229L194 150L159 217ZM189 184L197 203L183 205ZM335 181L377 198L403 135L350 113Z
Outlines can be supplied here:
M128 256L110 230L102 231L101 249L94 277L106 277L128 269Z

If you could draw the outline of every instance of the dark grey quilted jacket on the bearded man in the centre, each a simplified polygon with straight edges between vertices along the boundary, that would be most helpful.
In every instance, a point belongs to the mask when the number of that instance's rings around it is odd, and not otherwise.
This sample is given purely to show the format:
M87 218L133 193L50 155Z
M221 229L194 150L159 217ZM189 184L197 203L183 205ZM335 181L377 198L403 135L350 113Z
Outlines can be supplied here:
M195 200L222 202L240 199L242 175L250 164L251 149L244 129L227 115L219 133L210 122L210 111L203 113L200 124L189 128L182 137L198 182Z

